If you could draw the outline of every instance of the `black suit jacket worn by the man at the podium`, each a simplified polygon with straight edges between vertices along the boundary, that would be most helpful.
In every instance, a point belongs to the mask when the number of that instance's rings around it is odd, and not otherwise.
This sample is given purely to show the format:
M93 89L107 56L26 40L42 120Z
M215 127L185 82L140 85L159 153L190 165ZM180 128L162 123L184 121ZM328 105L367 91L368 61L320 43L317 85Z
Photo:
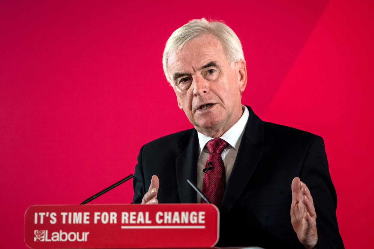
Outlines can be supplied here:
M217 246L302 248L291 225L291 182L305 182L317 215L319 248L343 248L335 215L337 197L323 139L309 132L249 119L220 208ZM134 203L141 203L152 175L160 180L159 203L196 203L199 142L195 129L145 144L134 174Z

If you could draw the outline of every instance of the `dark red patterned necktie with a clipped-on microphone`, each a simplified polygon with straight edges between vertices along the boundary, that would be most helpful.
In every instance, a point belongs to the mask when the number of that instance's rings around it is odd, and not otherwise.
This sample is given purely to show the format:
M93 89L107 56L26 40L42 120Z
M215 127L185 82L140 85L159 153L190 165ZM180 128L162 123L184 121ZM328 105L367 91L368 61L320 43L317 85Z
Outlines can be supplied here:
M229 144L221 138L212 139L206 144L209 157L205 163L205 170L208 167L214 168L208 169L204 173L203 194L218 208L221 206L226 185L225 166L221 154L228 145ZM201 203L206 202L205 200L201 200Z

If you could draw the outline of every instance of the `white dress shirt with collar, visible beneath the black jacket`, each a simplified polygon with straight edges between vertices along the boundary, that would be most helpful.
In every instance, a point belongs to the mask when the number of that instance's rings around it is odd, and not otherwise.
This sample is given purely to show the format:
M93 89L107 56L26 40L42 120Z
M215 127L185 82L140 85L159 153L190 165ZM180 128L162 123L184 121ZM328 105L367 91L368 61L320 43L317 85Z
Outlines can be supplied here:
M245 126L248 122L249 111L248 108L242 105L243 114L242 117L229 129L225 132L220 138L226 141L229 145L226 149L222 152L222 160L223 164L225 165L226 171L226 185L227 181L229 180L231 171L234 166L234 162L236 159L237 151L239 150L240 142L242 141L243 133ZM206 143L209 142L211 139L210 136L206 136L200 132L197 132L197 137L199 138L199 158L197 159L197 187L200 190L203 189L203 178L204 172L203 169L205 168L206 160L209 157L209 151L205 147ZM197 203L201 202L201 196L197 194Z

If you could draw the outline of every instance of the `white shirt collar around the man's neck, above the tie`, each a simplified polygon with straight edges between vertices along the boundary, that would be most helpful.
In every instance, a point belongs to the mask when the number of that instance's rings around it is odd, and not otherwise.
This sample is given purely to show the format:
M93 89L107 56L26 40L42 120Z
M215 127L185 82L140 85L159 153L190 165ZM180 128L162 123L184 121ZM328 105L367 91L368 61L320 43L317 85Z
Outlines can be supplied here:
M230 129L228 129L223 135L220 137L224 141L226 141L229 146L232 148L235 148L236 150L239 150L240 141L242 140L242 136L244 133L245 126L248 122L249 117L249 111L248 108L245 105L242 105L242 108L244 109L244 112L242 114L242 117L233 125ZM206 145L207 142L212 140L213 138L210 136L206 136L203 133L197 132L197 137L199 138L199 157L201 156L201 153Z

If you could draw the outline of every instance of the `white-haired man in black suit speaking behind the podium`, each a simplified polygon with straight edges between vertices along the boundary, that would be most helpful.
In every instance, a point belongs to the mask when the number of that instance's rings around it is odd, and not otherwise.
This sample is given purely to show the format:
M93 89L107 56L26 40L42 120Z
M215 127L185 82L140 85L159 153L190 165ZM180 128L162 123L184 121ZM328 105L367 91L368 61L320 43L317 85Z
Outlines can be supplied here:
M324 142L242 105L247 71L236 34L192 20L169 38L163 67L194 129L141 148L134 203L200 203L191 179L220 208L218 245L343 248Z

